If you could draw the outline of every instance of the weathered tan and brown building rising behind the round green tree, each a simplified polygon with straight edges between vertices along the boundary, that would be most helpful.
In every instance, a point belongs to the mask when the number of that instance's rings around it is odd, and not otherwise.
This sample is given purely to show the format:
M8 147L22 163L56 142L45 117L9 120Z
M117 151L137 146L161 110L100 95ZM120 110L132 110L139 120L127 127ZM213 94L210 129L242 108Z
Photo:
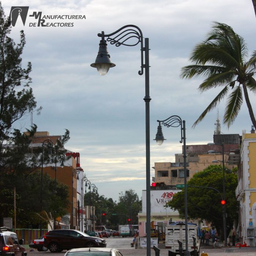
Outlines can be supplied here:
M240 136L238 134L214 135L214 143L224 143L224 162L227 168L236 167L229 164L229 152L238 150L240 146ZM222 164L222 146L214 145L187 145L187 181L197 172L204 170L209 165ZM183 147L182 147L183 152ZM159 184L176 187L176 184L184 184L184 158L183 154L175 154L175 162L155 163L155 177L153 181Z

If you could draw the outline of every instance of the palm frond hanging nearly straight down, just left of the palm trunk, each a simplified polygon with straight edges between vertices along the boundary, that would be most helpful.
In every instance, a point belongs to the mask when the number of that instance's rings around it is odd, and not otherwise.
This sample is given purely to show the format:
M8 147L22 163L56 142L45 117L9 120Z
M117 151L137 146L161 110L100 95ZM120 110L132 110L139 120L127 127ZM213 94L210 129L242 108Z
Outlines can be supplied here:
M231 92L231 94L227 99L227 105L225 109L223 123L227 124L228 128L236 119L242 103L243 103L242 88L241 86L237 86L236 89Z

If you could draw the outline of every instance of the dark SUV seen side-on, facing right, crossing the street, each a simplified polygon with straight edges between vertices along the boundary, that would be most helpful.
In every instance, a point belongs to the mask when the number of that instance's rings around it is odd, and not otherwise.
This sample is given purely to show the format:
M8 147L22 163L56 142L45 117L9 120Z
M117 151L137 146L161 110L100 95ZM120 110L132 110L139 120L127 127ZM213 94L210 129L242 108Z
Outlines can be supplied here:
M61 252L72 248L106 247L106 240L91 237L74 229L55 229L45 234L44 246L51 252Z

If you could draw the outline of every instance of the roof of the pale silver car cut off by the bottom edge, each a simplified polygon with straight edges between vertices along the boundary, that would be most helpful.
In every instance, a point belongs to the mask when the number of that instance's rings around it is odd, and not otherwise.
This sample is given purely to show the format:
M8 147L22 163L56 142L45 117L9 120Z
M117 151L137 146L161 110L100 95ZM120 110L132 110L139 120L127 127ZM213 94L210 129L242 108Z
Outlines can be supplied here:
M114 248L78 248L71 249L64 256L123 256L123 254Z

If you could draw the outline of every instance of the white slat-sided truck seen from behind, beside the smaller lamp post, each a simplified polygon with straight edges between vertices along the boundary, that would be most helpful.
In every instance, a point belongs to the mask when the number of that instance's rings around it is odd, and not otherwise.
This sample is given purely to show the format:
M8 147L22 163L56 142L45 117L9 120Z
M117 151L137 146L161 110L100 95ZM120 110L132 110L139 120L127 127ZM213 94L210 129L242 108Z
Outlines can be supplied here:
M169 256L180 255L186 248L185 222L174 222L165 227L165 248L169 249ZM198 226L188 222L188 251L191 256L199 256L200 242L197 236Z

